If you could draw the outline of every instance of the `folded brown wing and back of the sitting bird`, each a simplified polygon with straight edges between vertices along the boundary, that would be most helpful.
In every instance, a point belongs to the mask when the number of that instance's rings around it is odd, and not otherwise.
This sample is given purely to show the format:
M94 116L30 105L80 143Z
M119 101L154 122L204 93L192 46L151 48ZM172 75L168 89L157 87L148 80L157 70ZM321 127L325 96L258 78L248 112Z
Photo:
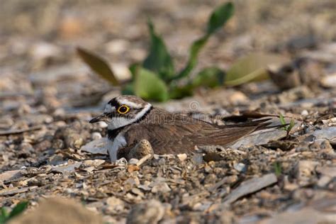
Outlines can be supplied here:
M124 135L128 146L119 150L118 158L125 157L142 139L150 141L155 154L159 155L192 152L195 145L228 145L266 126L268 123L264 121L218 126L185 116L175 116L171 122L131 125Z

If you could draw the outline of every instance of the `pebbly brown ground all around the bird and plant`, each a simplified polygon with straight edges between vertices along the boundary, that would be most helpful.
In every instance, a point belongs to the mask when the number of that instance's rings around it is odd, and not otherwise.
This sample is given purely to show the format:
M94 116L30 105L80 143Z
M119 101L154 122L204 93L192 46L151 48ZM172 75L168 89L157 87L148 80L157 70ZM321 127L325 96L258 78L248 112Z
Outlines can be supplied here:
M289 135L268 130L194 155L113 164L92 143L103 142L106 125L88 121L120 89L91 72L75 47L102 55L120 79L128 79L128 65L147 54L150 16L181 68L221 2L2 3L0 206L11 210L29 201L12 223L69 217L72 223L336 222L333 0L234 1L235 16L209 40L196 71L228 69L251 52L281 55L293 67L276 69L281 78L275 81L199 89L154 103L218 123L236 123L233 116L243 111L281 113L296 123ZM297 76L300 82L293 82ZM284 85L291 88L281 90Z

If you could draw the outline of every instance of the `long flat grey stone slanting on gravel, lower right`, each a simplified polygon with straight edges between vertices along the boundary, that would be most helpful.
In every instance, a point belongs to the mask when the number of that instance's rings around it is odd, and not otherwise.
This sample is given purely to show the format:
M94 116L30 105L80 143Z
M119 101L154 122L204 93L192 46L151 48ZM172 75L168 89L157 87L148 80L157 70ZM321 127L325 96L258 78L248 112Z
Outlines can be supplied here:
M229 206L230 203L235 202L242 196L259 191L271 184L275 184L277 181L278 179L276 179L275 174L266 174L262 177L255 177L253 179L243 181L240 186L237 187L237 189L234 189L228 196L224 198L223 207Z

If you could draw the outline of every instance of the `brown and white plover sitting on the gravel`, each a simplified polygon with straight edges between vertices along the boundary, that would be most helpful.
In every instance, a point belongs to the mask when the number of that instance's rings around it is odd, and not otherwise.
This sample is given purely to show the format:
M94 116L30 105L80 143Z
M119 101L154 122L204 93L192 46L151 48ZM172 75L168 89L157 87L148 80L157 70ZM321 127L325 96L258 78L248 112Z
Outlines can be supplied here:
M152 106L138 96L121 95L108 101L101 115L89 123L107 124L108 155L111 162L129 160L142 140L150 142L157 155L190 154L195 146L225 146L257 130L266 129L269 119L235 125L218 125L181 113Z

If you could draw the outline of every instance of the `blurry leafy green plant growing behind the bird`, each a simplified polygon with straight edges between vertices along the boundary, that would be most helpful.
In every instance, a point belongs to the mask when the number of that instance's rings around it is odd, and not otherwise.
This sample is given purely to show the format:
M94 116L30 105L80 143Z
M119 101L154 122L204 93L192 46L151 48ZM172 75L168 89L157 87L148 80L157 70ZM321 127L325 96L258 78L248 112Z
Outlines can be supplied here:
M181 71L176 71L164 40L155 32L152 21L147 26L150 31L150 50L142 63L130 65L132 79L123 84L123 94L135 94L143 99L166 101L191 95L199 86L215 87L223 84L225 72L218 67L206 67L198 72L194 79L190 75L198 62L198 55L208 39L233 16L234 6L231 2L218 6L208 19L206 32L194 41L189 49L189 59ZM97 74L119 85L107 62L98 55L78 47L79 57Z

